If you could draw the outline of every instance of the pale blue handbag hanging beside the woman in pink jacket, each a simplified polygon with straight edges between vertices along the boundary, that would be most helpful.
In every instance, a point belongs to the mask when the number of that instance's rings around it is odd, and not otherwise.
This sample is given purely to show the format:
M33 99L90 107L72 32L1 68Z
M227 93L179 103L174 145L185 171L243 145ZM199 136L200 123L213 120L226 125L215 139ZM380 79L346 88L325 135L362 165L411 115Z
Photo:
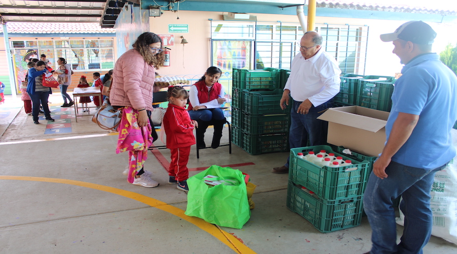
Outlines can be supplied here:
M110 104L109 98L106 98L100 109L93 115L92 121L98 124L103 130L116 132L121 118L122 108L114 109Z

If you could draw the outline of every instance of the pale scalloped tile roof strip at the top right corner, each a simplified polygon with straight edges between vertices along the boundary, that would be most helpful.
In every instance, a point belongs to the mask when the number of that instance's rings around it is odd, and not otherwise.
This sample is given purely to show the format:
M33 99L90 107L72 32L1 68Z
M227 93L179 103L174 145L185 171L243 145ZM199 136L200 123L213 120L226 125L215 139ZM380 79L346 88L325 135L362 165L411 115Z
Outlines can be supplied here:
M449 0L317 0L317 7L384 12L457 15L457 1Z

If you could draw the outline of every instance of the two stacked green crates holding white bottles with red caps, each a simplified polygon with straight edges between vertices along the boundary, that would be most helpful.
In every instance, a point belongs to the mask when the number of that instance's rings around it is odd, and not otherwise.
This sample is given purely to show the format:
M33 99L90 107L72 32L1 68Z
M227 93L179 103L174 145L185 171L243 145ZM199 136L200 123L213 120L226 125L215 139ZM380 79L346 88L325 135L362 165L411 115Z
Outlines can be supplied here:
M351 160L353 165L321 168L298 156L299 152L308 154L309 151L318 153L320 150ZM324 233L360 225L369 164L368 161L335 152L325 145L290 149L287 207Z

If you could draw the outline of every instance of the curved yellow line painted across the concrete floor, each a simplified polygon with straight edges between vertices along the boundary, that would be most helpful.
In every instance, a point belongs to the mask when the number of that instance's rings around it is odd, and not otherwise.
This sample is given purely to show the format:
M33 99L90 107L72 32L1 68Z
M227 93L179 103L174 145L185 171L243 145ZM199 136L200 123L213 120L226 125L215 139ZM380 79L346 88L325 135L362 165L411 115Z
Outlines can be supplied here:
M90 182L83 182L83 181L76 181L76 180L69 180L69 179L59 179L59 178L46 178L46 177L32 177L32 176L0 176L0 180L22 180L22 181L37 181L37 182L53 182L53 183L64 183L64 184L72 184L76 186L92 188L96 190L102 190L103 192L113 193L119 196L123 196L129 199L133 199L144 203L146 205L155 207L162 211L169 212L175 216L178 216L184 220L187 220L189 223L199 227L200 229L208 232L219 241L227 245L228 247L232 248L234 251L240 254L255 254L255 252L241 243L238 239L236 239L233 235L228 234L223 230L219 230L214 225L207 223L205 220L197 217L190 217L184 214L184 211L169 205L165 202L138 194L134 192L129 192L128 190L118 189L110 186L105 186L101 184L95 184ZM228 240L227 240L228 239Z

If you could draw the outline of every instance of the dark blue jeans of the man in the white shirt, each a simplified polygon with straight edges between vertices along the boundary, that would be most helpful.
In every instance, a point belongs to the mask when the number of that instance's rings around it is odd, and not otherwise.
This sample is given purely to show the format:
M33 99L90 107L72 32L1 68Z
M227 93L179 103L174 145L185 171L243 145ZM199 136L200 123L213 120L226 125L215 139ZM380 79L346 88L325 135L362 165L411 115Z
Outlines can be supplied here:
M312 106L308 114L303 115L297 113L298 108L302 102L292 100L292 108L290 110L290 129L289 129L289 147L297 148L304 147L308 143L308 136L310 145L325 145L327 144L327 131L329 123L317 119L323 112L318 113L324 109L332 107L331 102L323 103L317 107ZM284 165L289 167L289 157L287 163Z

